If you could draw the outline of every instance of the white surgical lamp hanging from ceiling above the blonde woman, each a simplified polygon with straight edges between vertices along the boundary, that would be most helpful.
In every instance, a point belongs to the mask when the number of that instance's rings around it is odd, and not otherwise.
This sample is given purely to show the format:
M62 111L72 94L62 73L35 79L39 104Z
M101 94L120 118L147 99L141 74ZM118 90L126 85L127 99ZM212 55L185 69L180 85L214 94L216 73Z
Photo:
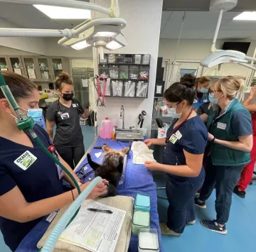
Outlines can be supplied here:
M210 0L210 11L220 11L220 14L213 37L213 43L210 48L211 54L205 57L200 63L203 67L214 67L215 65L220 65L223 63L235 63L252 70L256 70L256 67L253 66L253 61L256 60L255 57L248 57L245 55L245 53L235 50L217 50L215 48L223 12L230 11L231 9L235 8L237 4L238 0ZM251 64L248 64L249 61L252 61Z

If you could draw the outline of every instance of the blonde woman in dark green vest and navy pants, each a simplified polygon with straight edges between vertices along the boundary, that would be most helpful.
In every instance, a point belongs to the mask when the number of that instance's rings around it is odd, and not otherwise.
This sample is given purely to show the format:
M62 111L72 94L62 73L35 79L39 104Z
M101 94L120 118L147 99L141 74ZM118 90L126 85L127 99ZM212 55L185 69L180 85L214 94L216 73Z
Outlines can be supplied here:
M219 234L227 234L233 189L242 169L250 163L252 150L252 119L249 111L235 98L243 87L243 81L225 77L213 84L209 98L218 109L211 109L207 120L210 141L210 162L200 197L195 199L198 207L206 208L206 200L216 189L216 220L201 224Z

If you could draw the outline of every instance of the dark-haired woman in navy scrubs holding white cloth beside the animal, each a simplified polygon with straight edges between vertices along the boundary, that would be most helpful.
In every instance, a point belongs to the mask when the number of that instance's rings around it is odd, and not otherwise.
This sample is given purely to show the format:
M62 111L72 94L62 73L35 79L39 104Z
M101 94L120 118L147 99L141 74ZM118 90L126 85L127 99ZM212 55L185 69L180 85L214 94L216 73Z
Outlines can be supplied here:
M152 144L166 146L163 164L146 162L149 170L167 173L166 195L169 200L168 219L161 225L162 234L180 236L186 224L196 221L194 195L203 185L203 153L208 132L200 116L193 110L195 89L191 82L176 82L164 92L169 114L175 118L167 138L147 139Z

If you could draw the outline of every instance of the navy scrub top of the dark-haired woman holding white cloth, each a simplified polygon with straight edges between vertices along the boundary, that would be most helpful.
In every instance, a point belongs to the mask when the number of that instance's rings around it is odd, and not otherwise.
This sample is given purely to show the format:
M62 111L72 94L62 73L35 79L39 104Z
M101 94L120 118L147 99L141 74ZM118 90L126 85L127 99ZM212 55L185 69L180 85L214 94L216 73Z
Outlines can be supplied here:
M171 134L176 121L169 127L166 136ZM208 141L208 131L200 116L188 119L178 128L175 134L178 136L176 142L171 143L171 141L168 141L164 149L163 161L165 165L186 165L183 150L191 154L203 154L205 152L206 143ZM201 170L201 175L199 176L202 175L204 175L204 169ZM178 177L171 174L168 174L168 176Z

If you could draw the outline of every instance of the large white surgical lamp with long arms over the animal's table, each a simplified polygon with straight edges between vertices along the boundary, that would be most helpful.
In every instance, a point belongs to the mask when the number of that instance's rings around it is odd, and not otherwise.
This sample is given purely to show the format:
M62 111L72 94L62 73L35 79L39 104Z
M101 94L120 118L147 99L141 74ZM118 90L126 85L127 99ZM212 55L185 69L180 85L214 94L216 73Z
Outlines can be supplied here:
M37 9L38 4L87 9L110 16L110 18L87 20L73 29L65 30L0 28L0 37L63 37L58 41L58 45L75 50L93 46L98 48L101 59L103 59L103 48L116 50L127 45L127 40L121 33L127 22L119 18L118 0L111 1L110 9L76 0L0 0L0 2L33 4Z

